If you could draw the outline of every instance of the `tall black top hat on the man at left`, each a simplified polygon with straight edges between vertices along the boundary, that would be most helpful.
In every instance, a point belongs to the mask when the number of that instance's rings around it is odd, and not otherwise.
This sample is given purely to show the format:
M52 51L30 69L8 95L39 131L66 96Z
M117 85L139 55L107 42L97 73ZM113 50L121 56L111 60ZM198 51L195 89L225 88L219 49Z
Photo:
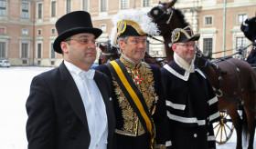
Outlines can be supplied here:
M80 33L91 33L98 38L102 31L99 28L93 28L91 23L91 15L85 11L75 11L63 15L56 22L58 37L55 39L53 48L54 51L62 54L60 43L67 39L69 36L77 35Z

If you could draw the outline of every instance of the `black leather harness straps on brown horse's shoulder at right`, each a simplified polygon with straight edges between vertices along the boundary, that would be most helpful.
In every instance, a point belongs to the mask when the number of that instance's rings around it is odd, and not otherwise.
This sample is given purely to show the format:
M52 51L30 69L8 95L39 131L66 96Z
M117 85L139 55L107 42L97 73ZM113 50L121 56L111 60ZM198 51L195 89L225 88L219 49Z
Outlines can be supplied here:
M221 97L223 99L226 99L226 100L229 100L231 102L234 102L234 103L238 104L239 108L242 107L242 106L245 106L251 112L254 112L256 114L256 110L255 109L251 108L251 106L249 106L247 104L244 104L244 102L242 100L242 95L240 95L237 98L238 99L237 100L236 98L232 98L232 97L230 97L228 95L223 94L222 91L221 91L221 87L222 87L222 76L221 76L221 74L223 74L223 73L225 74L227 72L223 72L220 69L219 65L216 65L216 63L218 63L218 62L225 61L225 62L228 62L229 64L233 65L236 68L236 71L237 71L237 73L238 73L238 75L240 77L240 84L242 84L242 77L241 77L241 74L240 74L240 68L237 65L235 65L233 62L229 61L228 60L229 58L231 58L231 56L221 58L221 59L219 59L219 60L217 60L217 61L215 61L213 63L209 63L215 69L215 71L217 71L218 80L219 80L218 86L216 88L213 88L213 89L214 89L214 91L215 91L215 93L217 94L218 97ZM244 88L241 88L241 93L243 93L243 91L244 91Z

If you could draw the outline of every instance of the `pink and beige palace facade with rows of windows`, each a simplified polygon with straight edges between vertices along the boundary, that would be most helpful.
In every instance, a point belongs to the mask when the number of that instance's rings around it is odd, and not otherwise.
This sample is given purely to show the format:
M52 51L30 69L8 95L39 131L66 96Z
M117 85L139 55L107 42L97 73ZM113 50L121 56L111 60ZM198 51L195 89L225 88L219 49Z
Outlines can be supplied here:
M0 0L0 59L8 59L11 65L57 66L62 62L62 55L55 53L52 45L58 36L55 23L62 15L88 11L93 26L103 31L98 41L105 42L112 32L113 15L133 8L149 12L158 2ZM198 45L204 53L218 53L214 57L231 55L240 46L250 44L240 31L240 25L246 18L255 16L256 0L177 0L175 8L181 9L194 31L201 34ZM157 38L163 40L161 36ZM148 45L149 54L165 56L164 45L149 40L155 43ZM240 57L245 57L249 51Z

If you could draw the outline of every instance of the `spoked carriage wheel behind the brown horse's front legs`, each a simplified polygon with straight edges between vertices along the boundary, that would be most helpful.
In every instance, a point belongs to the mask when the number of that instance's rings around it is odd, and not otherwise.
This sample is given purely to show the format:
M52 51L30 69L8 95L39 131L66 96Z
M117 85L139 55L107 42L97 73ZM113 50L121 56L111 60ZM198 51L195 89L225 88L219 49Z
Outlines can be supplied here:
M218 144L225 144L229 141L234 131L234 124L227 111L220 111L220 121L213 124L215 141Z

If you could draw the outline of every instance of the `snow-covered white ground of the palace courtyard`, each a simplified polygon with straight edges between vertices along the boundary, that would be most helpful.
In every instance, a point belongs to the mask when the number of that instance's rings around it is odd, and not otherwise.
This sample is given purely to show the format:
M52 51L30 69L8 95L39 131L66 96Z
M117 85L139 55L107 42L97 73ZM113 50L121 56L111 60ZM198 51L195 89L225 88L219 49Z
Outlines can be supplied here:
M33 76L52 67L0 67L0 149L27 149L25 104ZM236 133L218 149L234 149ZM256 148L256 139L254 139Z

